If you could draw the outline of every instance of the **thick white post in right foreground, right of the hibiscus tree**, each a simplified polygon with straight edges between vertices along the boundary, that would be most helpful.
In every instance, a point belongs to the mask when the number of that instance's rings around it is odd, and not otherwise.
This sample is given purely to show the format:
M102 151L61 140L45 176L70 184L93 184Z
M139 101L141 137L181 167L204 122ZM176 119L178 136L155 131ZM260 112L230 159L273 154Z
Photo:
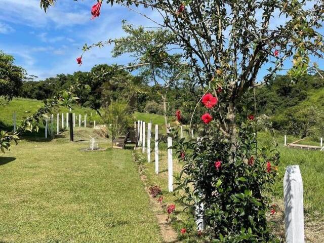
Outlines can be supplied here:
M289 166L284 177L286 242L304 243L303 181L299 166Z

